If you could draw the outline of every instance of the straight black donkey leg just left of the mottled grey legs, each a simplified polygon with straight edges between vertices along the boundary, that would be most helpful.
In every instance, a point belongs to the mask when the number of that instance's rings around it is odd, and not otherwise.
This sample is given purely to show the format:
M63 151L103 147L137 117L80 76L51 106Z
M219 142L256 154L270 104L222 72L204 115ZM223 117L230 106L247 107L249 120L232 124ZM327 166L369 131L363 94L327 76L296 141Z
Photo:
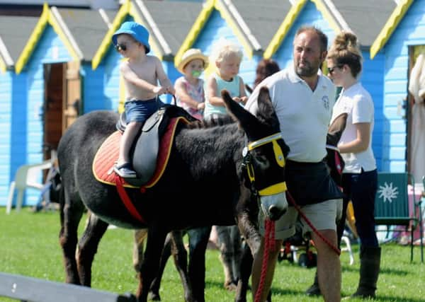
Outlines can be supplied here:
M193 298L196 302L205 302L205 251L210 238L211 226L191 228L189 237L189 267Z

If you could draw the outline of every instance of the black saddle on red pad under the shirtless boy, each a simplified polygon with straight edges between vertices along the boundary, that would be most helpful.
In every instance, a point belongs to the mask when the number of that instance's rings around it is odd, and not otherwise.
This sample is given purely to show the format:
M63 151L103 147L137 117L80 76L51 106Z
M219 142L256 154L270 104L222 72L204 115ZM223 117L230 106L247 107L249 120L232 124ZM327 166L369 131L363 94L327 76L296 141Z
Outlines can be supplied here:
M196 121L195 117L176 105L166 104L154 112L143 124L130 151L132 166L137 173L137 178L125 179L130 185L141 187L151 180L157 168L159 141L164 135L169 121L174 117L185 117L189 122ZM116 128L118 131L124 132L126 125L125 112L123 112L118 119Z

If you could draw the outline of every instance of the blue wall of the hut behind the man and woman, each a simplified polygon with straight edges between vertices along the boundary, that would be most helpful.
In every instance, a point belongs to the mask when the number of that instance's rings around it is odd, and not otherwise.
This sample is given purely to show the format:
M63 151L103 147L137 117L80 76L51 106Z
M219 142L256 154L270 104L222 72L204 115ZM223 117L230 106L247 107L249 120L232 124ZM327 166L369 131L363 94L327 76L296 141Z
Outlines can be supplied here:
M288 31L285 39L275 54L275 59L280 68L284 69L293 64L293 40L298 28L302 25L313 25L322 30L328 37L328 46L336 36L336 32L331 28L329 23L324 19L322 13L317 10L317 7L311 1L305 4L300 12L298 18L293 24L292 28ZM379 54L375 59L370 60L368 50L362 52L363 54L363 72L360 81L363 86L369 91L375 103L375 128L372 137L372 148L375 154L378 170L382 169L382 91L383 91L383 70L384 70L384 57Z

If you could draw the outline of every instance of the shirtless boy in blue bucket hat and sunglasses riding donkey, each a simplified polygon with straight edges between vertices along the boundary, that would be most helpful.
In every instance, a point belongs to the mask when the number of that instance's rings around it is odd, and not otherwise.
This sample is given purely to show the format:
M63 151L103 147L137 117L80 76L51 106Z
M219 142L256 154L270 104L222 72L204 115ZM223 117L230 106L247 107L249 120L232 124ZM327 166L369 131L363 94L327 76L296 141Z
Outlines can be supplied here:
M126 58L120 64L125 83L127 127L120 141L115 173L122 178L136 178L130 163L130 148L142 124L162 105L158 95L174 94L174 87L157 57L150 51L149 32L135 22L125 22L112 36L113 45ZM160 86L158 86L158 81Z

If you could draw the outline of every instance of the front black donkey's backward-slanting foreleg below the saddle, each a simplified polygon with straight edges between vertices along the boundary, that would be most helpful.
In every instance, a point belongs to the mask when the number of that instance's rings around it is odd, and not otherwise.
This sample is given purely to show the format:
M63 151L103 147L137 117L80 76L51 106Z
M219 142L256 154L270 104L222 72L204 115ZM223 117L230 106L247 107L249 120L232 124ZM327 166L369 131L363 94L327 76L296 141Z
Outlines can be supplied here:
M139 287L137 289L137 301L146 302L149 288L154 277L158 274L159 260L164 241L168 231L162 226L163 221L158 221L149 226L147 231L147 243L145 255L143 255L142 266L139 273Z

